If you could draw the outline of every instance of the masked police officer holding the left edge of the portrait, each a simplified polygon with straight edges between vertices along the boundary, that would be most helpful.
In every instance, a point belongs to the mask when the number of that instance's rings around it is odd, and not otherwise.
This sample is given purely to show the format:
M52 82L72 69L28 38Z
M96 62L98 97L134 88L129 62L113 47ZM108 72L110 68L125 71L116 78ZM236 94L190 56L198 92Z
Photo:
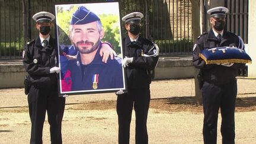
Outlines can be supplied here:
M62 118L65 98L57 91L57 44L50 36L55 16L41 11L33 15L39 37L24 48L23 64L30 75L31 88L28 93L28 109L31 120L30 143L43 143L42 132L47 111L52 143L62 143Z

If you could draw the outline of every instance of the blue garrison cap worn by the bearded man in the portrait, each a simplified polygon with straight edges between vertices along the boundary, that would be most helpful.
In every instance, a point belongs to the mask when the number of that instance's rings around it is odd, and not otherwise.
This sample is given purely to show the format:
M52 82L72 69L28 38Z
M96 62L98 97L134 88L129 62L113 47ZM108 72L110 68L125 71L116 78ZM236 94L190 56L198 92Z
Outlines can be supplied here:
M88 24L94 21L100 21L100 18L84 6L78 7L71 18L71 24Z

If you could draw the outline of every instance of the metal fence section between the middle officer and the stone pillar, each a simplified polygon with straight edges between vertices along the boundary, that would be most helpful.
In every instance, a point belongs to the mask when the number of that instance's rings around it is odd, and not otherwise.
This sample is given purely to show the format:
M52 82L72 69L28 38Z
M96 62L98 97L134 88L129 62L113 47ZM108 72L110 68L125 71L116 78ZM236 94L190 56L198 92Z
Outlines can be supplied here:
M191 55L193 31L190 0L124 0L121 4L121 14L131 11L145 14L143 34L158 44L159 55Z

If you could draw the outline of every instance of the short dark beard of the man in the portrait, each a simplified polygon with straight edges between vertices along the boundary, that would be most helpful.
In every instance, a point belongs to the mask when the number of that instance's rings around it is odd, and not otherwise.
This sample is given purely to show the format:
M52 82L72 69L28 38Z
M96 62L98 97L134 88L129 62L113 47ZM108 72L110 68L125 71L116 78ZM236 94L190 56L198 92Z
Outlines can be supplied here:
M89 47L88 46L81 46L80 48L78 47L78 45L79 44L91 44L91 49L89 49ZM80 52L80 53L91 53L91 52L94 52L95 50L97 50L98 49L98 47L99 47L99 44L100 44L100 39L98 39L98 41L94 44L93 42L91 42L91 41L88 41L88 40L86 40L86 41L78 41L78 42L76 42L76 44L74 44L75 45L75 47L76 47L76 49L78 49L78 51Z

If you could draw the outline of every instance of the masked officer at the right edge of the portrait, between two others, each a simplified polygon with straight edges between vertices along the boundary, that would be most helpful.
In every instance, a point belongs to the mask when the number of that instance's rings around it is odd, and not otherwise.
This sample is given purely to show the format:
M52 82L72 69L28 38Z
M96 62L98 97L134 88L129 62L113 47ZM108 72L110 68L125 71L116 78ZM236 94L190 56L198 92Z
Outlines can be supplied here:
M132 12L122 20L128 36L124 39L125 57L122 65L127 74L127 92L118 91L117 114L119 121L119 143L129 143L130 122L133 105L136 115L136 143L148 143L147 117L151 98L151 70L158 62L158 47L140 36L143 14Z

